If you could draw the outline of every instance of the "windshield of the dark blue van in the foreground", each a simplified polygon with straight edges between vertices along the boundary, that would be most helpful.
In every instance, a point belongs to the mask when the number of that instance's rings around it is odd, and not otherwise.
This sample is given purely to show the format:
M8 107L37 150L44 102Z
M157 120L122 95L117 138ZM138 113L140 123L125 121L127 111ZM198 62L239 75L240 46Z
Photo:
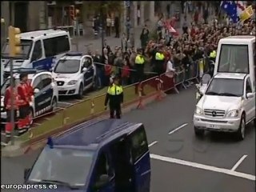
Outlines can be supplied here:
M93 150L46 147L35 162L28 182L58 181L69 186L85 186L93 158Z

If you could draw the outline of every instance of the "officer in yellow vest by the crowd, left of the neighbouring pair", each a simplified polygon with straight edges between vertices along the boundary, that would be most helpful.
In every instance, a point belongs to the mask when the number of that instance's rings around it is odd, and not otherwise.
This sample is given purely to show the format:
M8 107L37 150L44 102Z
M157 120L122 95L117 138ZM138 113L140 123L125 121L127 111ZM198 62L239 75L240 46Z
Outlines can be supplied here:
M134 68L136 70L136 82L142 82L144 76L145 58L142 56L142 49L137 50Z

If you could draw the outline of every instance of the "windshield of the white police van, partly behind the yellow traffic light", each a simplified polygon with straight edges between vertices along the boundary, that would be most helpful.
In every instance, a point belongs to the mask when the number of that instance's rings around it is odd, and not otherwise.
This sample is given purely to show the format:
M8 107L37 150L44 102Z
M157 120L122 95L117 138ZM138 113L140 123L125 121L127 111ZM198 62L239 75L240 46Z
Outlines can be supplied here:
M33 41L32 40L24 40L21 39L21 54L17 55L17 58L20 59L28 59L30 58L30 50L32 48ZM5 43L5 45L2 48L2 58L8 58L10 53L10 46L9 46L9 41Z

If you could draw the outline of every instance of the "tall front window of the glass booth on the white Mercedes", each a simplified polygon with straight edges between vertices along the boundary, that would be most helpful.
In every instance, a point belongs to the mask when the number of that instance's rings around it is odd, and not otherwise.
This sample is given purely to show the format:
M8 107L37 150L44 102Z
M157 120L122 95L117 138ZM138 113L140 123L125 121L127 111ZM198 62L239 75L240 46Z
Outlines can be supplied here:
M249 74L247 45L222 44L218 60L218 72Z

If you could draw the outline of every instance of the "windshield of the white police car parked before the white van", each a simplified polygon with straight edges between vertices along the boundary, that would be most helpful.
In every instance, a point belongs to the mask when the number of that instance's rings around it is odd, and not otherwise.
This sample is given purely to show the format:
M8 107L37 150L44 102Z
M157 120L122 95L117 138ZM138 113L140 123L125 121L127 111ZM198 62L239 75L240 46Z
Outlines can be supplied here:
M80 60L77 59L61 59L54 68L56 74L75 74L80 70Z

